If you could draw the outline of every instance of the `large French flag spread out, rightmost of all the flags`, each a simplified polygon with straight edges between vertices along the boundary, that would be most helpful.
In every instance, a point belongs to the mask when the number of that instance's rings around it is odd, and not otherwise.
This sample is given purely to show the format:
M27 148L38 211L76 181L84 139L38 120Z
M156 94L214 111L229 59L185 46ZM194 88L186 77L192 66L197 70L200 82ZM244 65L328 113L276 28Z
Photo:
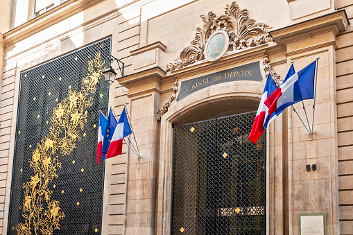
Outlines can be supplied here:
M284 110L299 101L313 98L315 67L316 61L298 73L294 73L273 94L268 96L265 105L268 107L269 115L278 110Z

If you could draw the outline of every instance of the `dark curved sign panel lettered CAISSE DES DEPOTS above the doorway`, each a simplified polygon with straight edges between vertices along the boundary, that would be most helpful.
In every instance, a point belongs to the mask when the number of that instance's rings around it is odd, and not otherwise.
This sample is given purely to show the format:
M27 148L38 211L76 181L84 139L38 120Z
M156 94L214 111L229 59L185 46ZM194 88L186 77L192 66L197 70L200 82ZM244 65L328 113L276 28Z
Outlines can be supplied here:
M252 80L260 82L262 79L259 61L244 64L232 69L226 69L216 73L210 73L205 76L200 76L198 78L182 81L180 84L180 92L177 101L189 96L189 94L193 94L193 92L197 92L200 89L219 83L237 80Z

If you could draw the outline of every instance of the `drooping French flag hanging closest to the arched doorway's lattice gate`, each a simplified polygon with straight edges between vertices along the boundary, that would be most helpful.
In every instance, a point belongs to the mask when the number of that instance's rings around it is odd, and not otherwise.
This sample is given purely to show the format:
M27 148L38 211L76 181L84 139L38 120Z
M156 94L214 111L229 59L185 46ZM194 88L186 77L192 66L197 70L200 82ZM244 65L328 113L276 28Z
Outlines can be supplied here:
M261 101L259 104L259 108L257 109L257 114L255 117L254 124L252 124L251 132L249 134L249 139L252 143L256 143L257 139L264 132L264 121L268 116L268 107L265 105L265 101L277 89L275 81L273 81L270 74L267 76L267 81L264 89L264 93L262 94Z

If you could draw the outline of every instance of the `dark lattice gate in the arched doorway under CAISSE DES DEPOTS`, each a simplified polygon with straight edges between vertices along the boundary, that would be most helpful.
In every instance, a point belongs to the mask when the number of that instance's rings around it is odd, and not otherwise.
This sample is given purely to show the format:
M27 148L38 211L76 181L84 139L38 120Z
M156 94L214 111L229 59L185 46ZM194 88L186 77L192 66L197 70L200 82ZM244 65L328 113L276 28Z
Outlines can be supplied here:
M256 112L175 127L173 234L266 234L265 134Z

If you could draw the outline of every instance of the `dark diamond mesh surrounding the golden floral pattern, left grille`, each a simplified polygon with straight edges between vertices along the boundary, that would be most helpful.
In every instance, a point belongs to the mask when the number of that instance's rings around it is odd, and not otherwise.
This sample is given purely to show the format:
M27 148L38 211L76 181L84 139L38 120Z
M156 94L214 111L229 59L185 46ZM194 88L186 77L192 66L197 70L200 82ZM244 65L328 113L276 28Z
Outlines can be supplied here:
M110 66L111 37L21 72L7 234L19 234L16 227L24 223L23 208L30 202L24 198L24 184L33 183L35 177L29 160L50 131L53 109L68 98L68 90L82 89L88 63L96 53L100 53L103 67ZM61 168L48 189L64 218L49 234L101 234L105 163L97 165L96 148L99 110L107 112L108 96L109 85L101 76L96 92L87 96L92 106L85 107L87 122L83 130L78 130L80 138L74 150L69 155L56 153ZM46 204L43 207L49 208L52 219L55 208ZM23 234L44 232L24 229Z

